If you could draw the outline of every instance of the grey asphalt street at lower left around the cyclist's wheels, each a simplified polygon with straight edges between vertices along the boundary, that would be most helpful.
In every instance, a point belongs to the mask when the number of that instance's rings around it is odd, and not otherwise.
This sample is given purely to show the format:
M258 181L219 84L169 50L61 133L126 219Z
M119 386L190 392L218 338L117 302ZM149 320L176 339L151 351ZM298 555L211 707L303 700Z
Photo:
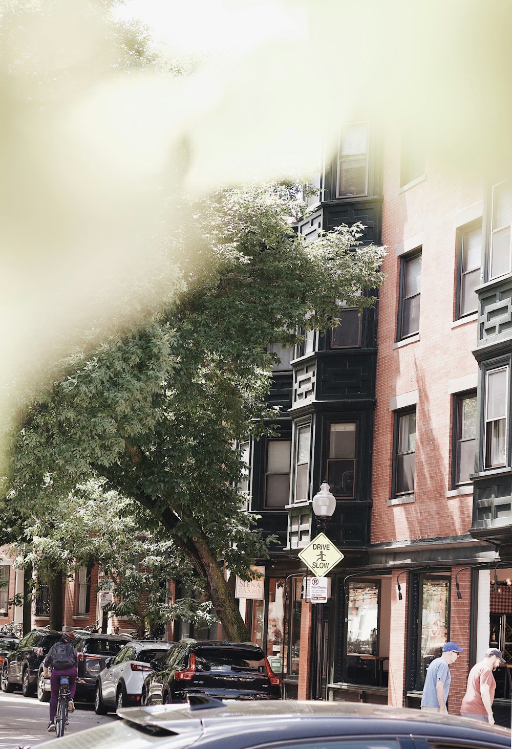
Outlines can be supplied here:
M112 713L96 715L92 704L76 703L66 734L115 720ZM48 721L48 703L40 703L36 697L23 697L21 692L0 692L0 749L37 747L54 739L55 733L46 730Z

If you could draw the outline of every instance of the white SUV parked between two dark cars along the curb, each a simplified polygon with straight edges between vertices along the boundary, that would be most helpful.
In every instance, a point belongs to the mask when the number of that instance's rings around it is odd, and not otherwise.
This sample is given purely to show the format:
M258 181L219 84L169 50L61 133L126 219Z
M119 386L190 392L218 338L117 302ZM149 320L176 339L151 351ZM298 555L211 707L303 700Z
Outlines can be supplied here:
M132 640L115 658L107 658L96 680L94 710L97 715L139 705L145 676L153 670L149 664L160 661L175 645L163 640Z

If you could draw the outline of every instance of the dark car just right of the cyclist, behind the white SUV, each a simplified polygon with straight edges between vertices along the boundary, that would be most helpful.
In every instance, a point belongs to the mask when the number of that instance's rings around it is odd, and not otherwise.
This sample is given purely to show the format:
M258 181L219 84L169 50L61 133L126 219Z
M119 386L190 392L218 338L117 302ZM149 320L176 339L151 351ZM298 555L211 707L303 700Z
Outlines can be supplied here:
M127 634L88 634L77 640L76 700L94 700L97 677L107 658L117 655L131 637Z

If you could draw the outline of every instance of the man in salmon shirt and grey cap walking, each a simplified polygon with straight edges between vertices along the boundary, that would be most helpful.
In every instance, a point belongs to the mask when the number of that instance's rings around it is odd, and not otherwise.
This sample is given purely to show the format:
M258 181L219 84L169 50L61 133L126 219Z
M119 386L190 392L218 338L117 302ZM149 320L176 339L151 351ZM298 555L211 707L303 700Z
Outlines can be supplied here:
M478 661L472 667L468 676L466 694L460 706L460 715L463 718L473 718L475 721L493 725L493 700L496 691L493 671L496 671L502 663L505 663L502 651L490 648L484 655L484 660Z

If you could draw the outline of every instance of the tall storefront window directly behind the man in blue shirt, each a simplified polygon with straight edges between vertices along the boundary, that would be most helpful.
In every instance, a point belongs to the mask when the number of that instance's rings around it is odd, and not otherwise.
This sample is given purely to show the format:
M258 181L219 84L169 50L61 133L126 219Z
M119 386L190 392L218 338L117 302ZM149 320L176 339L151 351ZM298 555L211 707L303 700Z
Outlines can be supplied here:
M418 629L421 643L418 648L417 688L423 689L427 668L434 658L439 658L448 637L448 604L450 580L424 578L420 589L421 619Z

